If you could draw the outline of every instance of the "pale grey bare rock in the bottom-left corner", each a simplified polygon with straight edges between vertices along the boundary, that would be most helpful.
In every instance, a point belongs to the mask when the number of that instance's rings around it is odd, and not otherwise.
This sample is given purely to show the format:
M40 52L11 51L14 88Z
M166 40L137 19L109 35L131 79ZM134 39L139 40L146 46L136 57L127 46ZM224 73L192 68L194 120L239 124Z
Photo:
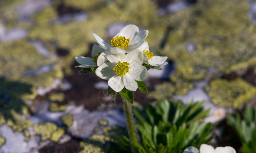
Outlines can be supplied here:
M1 152L30 152L38 145L35 138L31 138L29 141L26 142L23 133L13 132L11 127L5 124L0 127L0 135L2 135L6 139L5 144L3 144L3 146L0 148Z

